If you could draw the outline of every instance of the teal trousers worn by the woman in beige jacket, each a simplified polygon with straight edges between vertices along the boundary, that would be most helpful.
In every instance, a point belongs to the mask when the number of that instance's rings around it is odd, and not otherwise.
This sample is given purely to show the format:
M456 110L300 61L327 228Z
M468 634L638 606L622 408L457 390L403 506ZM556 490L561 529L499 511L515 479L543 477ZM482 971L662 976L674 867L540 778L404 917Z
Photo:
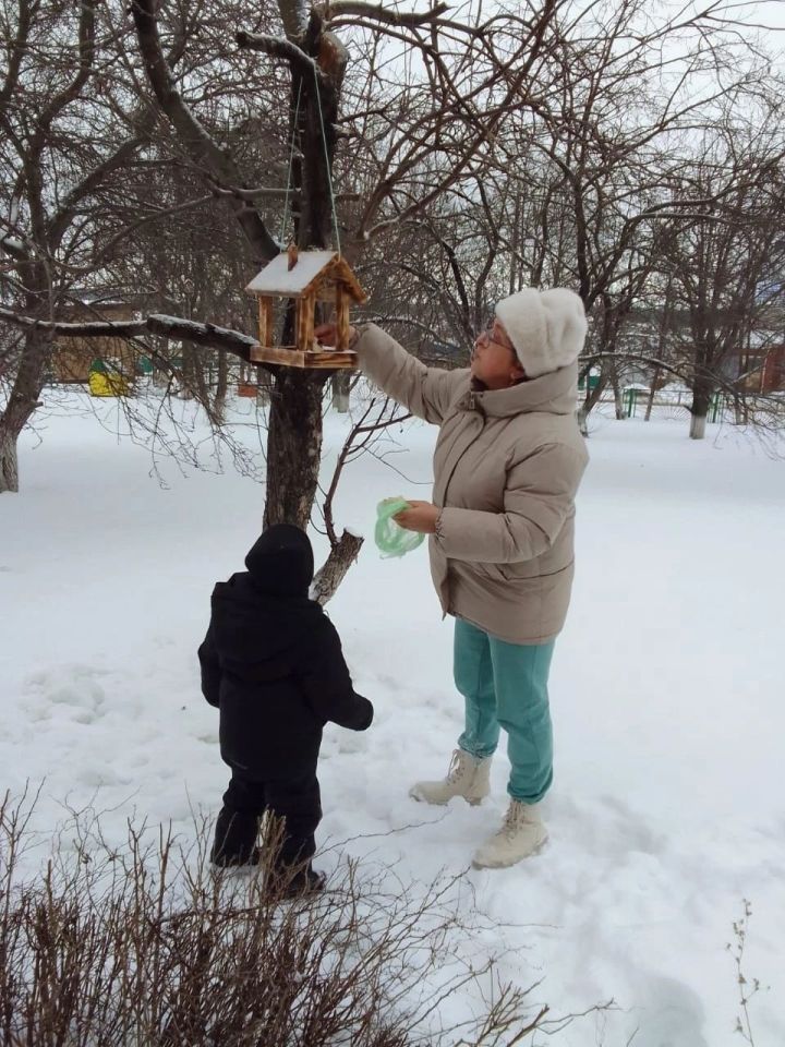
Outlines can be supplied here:
M455 682L466 700L458 745L479 759L492 756L502 727L512 765L507 792L535 804L553 780L553 730L547 679L555 641L508 643L456 618Z

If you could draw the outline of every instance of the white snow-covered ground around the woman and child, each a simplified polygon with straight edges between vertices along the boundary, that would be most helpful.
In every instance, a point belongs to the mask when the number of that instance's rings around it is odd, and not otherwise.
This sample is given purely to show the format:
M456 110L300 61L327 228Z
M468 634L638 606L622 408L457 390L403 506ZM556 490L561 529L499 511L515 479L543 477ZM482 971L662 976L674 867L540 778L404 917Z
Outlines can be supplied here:
M106 811L118 840L133 810L189 833L227 777L195 649L213 582L256 537L264 488L166 462L164 488L148 452L117 440L114 405L98 409L105 428L62 410L43 421L43 443L23 441L22 493L0 498L0 787L44 780L38 828L62 821L68 802ZM238 432L257 442L244 421ZM346 428L328 417L333 456ZM434 432L408 423L395 436L398 471L365 456L338 498L338 524L369 538L379 498L428 496ZM321 842L349 841L345 853L404 881L467 869L466 904L511 950L503 976L541 979L535 998L557 1013L615 999L618 1010L559 1033L565 1047L620 1047L636 1030L636 1047L737 1042L725 946L750 899L745 973L771 986L752 1027L758 1047L780 1047L785 460L730 428L691 442L684 420L597 418L590 450L552 676L547 849L508 870L468 868L505 809L503 755L480 808L408 798L415 778L446 770L460 730L451 628L425 549L385 561L372 542L329 613L376 720L362 735L327 729Z

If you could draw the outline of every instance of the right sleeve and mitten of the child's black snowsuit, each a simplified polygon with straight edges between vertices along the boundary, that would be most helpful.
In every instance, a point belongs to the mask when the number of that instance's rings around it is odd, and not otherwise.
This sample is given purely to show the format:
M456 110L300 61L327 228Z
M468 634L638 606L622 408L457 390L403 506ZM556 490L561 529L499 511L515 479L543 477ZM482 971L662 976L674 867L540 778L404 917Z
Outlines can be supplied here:
M315 715L351 731L365 731L373 720L373 706L358 695L343 659L340 639L329 618L315 639L312 665L302 675L305 699Z

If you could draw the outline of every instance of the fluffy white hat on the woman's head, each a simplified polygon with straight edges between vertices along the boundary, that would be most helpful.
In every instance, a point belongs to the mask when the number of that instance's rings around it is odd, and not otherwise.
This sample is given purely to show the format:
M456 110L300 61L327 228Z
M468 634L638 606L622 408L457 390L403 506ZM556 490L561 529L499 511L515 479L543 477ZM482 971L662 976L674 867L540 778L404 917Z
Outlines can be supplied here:
M496 303L496 318L515 346L527 377L573 363L583 348L587 320L583 302L566 287L522 291Z

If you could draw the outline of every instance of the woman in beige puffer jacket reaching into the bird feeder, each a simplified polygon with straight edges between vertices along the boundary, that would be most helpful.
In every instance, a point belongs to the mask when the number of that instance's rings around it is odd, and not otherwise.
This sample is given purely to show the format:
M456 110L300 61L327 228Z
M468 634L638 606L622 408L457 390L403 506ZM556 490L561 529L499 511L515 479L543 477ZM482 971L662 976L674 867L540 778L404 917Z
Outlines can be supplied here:
M419 418L439 425L433 503L396 517L430 535L431 574L455 625L455 682L464 730L447 777L418 782L428 804L490 792L500 729L509 808L473 857L514 865L547 832L538 804L553 778L547 679L573 573L575 494L588 461L575 420L587 322L564 288L526 288L496 305L471 368L426 368L373 324L352 334L363 372ZM330 344L335 330L316 332ZM333 342L334 344L334 342Z

